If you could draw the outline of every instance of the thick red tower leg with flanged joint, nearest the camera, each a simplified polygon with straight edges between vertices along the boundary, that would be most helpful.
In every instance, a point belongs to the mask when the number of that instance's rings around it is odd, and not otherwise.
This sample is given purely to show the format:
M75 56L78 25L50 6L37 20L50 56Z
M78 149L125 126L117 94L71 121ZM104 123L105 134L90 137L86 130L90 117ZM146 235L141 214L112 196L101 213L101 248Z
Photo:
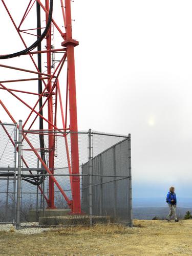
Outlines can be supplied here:
M70 110L70 129L71 132L77 132L77 103L76 103L76 84L75 84L75 57L74 47L78 42L72 38L72 20L71 20L71 1L65 0L66 5L66 41L62 46L67 47L68 59L68 83L69 83L69 110ZM72 197L73 214L81 213L80 205L80 179L79 179L79 152L78 152L78 134L71 134L71 164L72 164ZM77 176L75 176L75 174Z

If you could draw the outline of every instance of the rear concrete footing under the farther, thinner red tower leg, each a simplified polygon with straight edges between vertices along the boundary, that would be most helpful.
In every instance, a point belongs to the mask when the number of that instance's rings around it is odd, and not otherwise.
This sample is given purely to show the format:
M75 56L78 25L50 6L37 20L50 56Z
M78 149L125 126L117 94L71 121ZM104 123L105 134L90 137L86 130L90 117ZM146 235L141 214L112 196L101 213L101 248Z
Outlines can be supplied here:
M40 217L54 217L69 215L69 209L45 209L45 210L29 210L28 221L38 222Z

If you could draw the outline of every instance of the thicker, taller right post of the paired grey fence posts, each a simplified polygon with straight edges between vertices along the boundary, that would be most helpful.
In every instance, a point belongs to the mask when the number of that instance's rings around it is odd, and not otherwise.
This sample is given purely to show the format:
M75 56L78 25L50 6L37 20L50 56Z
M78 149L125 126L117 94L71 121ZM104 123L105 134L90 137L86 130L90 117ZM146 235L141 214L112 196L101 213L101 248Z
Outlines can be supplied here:
M19 229L20 227L21 180L22 180L22 120L19 120L16 229Z

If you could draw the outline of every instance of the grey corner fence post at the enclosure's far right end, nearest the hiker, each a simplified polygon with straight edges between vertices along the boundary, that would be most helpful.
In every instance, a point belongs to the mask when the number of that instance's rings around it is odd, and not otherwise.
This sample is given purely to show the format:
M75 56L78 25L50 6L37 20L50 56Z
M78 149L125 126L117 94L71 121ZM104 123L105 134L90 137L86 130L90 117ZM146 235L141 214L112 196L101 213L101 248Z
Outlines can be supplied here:
M131 134L128 137L129 154L129 207L130 207L130 226L133 227L133 207L132 207L132 165L131 165Z

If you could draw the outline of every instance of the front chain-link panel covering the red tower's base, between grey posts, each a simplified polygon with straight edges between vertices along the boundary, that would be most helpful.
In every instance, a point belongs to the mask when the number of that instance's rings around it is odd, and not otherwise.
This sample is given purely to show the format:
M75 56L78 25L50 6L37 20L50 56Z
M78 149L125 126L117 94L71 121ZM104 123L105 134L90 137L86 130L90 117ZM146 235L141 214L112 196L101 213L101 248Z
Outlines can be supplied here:
M22 176L22 205L20 221L22 226L36 225L57 225L58 223L70 223L74 219L70 215L72 202L72 164L71 164L71 136L72 133L44 131L25 131L29 141L32 141L34 150L29 143L23 141L23 176ZM42 153L41 141L43 135L44 152ZM54 136L54 170L50 175L42 166L38 157L45 156L45 163L49 167L49 136ZM77 133L79 145L79 174L81 174L82 164L88 161L88 132ZM36 154L38 154L38 157ZM25 168L29 170L25 171ZM25 174L24 174L25 172ZM49 208L50 180L54 177L54 207ZM81 175L80 179L81 198ZM35 184L36 183L36 184ZM65 194L65 196L63 196ZM67 198L67 200L66 200ZM67 216L67 217L66 217ZM51 218L54 217L54 218ZM58 217L58 218L56 218ZM60 217L60 218L59 218Z

